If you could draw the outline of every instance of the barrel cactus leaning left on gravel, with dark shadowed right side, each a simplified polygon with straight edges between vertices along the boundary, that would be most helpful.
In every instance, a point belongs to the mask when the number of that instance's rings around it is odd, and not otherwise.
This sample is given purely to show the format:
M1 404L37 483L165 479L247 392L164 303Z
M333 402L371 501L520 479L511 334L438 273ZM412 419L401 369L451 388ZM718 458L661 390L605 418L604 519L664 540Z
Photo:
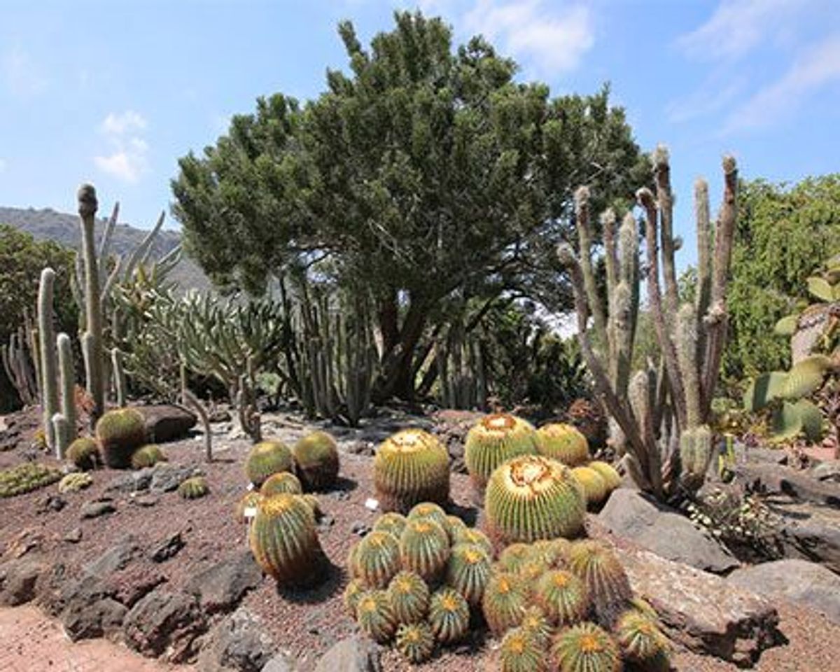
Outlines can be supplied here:
M312 584L323 575L324 555L315 517L300 495L263 497L249 529L257 564L281 584Z

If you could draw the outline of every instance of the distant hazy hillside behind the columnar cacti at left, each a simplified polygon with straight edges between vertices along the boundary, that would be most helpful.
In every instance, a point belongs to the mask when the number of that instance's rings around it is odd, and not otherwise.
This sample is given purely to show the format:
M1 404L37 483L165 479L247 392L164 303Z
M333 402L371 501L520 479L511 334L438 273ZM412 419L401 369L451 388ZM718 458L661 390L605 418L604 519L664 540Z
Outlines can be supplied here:
M97 242L102 236L105 222L105 219L97 219ZM57 213L49 207L43 210L35 210L32 207L25 210L17 207L0 207L0 223L11 224L21 231L32 234L36 239L55 240L56 243L73 249L79 249L81 244L78 216ZM126 255L148 233L142 228L118 223L113 230L111 249L118 255ZM153 258L160 259L180 242L181 234L178 232L161 231L155 238L155 244L152 248ZM181 259L181 263L172 271L171 277L185 290L195 288L203 291L210 287L207 276L192 260L186 259L186 257Z

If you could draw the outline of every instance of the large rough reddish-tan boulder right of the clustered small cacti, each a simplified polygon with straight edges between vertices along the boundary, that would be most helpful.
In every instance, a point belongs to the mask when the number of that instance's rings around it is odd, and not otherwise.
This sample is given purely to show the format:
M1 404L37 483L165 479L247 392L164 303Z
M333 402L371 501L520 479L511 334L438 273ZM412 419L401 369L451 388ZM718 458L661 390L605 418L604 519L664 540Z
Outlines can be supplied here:
M675 643L740 666L779 643L779 614L763 597L650 551L624 550L621 559L633 592L654 606Z

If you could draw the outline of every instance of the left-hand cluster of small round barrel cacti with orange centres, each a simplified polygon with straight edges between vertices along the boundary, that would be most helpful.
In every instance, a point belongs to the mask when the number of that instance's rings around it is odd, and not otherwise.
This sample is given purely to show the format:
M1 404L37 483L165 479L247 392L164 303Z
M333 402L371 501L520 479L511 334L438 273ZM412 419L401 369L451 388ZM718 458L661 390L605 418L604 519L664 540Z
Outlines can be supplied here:
M465 638L491 575L491 543L434 502L387 512L348 556L344 604L362 632L411 663Z

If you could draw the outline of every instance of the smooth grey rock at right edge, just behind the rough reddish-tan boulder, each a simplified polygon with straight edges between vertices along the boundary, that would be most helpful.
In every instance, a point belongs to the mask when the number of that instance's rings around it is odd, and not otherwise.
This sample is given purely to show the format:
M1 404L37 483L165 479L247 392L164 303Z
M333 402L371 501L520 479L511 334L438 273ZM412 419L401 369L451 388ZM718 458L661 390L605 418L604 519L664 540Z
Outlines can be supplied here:
M822 564L776 560L735 570L727 581L774 600L795 602L840 623L840 576Z

